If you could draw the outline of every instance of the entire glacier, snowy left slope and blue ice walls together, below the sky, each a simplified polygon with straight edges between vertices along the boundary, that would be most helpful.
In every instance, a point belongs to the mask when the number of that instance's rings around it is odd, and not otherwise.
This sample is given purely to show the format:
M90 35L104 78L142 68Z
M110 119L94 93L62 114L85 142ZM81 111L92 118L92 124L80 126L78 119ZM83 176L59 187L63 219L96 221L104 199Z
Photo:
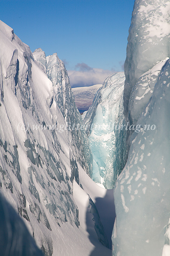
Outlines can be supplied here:
M170 255L169 17L168 0L135 0L124 72L88 93L0 21L0 248Z

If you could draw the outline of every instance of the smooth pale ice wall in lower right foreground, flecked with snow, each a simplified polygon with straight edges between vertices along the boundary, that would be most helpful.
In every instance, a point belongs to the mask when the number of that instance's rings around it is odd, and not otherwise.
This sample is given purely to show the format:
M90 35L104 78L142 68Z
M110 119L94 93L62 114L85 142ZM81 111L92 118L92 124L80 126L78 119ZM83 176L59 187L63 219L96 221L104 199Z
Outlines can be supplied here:
M170 60L137 122L141 131L132 135L127 163L115 185L114 256L170 254L169 79Z

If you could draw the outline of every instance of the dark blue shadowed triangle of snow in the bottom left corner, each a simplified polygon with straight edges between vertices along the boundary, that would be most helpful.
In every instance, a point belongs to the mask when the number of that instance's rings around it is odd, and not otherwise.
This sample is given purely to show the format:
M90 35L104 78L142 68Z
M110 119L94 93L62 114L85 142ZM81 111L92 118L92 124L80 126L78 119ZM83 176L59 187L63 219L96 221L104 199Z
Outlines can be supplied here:
M0 254L43 256L23 220L0 194Z

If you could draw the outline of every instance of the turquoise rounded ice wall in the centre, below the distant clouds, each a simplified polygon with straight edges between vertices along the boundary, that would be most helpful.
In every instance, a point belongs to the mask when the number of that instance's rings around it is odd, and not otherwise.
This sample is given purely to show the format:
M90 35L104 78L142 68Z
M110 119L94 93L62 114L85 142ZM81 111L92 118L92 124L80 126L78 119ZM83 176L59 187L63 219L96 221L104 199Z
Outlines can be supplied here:
M113 188L126 161L124 79L124 72L110 75L83 119L94 159L92 178L108 189Z

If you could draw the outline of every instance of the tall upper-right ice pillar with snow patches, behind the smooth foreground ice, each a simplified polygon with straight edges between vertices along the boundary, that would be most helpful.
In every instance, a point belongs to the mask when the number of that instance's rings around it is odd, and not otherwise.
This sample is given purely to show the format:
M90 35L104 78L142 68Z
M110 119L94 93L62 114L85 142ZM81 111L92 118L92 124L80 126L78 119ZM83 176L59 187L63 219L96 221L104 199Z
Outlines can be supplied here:
M136 124L151 97L160 70L170 57L170 2L136 0L124 64L124 114ZM130 106L130 107L129 107ZM127 133L128 148L130 133Z

